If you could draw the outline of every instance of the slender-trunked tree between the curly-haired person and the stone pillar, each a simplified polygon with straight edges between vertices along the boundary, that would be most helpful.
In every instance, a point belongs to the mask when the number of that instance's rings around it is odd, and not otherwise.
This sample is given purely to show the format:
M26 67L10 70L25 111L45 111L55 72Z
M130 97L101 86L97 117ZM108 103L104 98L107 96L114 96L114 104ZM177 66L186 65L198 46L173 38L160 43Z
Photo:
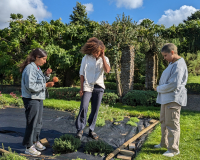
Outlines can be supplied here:
M114 66L118 95L122 97L123 90L120 80L121 56L127 47L134 45L136 39L136 24L131 22L130 16L118 15L116 21L110 25L102 22L94 31L94 36L101 39L106 45L106 54ZM132 83L132 81L131 81Z

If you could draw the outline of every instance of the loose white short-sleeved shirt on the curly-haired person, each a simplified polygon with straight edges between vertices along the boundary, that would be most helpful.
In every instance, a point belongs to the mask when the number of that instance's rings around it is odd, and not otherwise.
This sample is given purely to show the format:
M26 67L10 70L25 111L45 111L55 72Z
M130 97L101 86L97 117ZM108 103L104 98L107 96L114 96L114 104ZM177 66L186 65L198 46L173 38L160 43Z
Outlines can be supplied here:
M105 56L107 64L110 66L109 59ZM80 76L84 76L83 91L92 92L94 85L97 84L105 89L103 59L96 59L92 55L85 55L81 62Z

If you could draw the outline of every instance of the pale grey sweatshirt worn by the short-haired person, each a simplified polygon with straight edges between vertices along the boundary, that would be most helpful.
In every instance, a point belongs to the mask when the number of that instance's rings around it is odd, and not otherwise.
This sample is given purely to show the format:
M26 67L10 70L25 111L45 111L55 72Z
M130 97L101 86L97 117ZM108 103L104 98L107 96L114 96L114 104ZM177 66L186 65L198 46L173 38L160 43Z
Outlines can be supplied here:
M159 86L157 87L157 103L167 104L176 102L181 106L187 105L187 84L188 70L185 60L180 58L170 63L163 71Z

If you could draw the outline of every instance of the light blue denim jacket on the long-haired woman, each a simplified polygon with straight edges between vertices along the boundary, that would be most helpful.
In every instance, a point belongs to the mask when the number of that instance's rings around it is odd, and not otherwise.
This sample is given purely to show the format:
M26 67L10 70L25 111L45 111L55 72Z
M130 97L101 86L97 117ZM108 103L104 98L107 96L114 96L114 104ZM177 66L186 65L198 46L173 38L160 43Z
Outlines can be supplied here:
M45 99L46 82L50 77L45 76L34 62L28 64L22 72L22 97L31 99Z

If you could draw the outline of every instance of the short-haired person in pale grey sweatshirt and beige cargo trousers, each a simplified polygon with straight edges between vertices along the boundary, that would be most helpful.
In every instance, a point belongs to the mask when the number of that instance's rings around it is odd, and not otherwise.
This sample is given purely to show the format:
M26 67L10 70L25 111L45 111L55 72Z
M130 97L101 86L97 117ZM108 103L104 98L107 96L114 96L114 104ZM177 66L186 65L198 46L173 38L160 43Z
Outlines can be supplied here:
M162 138L155 148L168 149L163 155L173 157L180 153L180 111L181 106L187 105L188 79L187 65L177 53L177 47L168 43L163 46L161 53L169 63L163 71L157 87L157 103L161 104L160 122Z

